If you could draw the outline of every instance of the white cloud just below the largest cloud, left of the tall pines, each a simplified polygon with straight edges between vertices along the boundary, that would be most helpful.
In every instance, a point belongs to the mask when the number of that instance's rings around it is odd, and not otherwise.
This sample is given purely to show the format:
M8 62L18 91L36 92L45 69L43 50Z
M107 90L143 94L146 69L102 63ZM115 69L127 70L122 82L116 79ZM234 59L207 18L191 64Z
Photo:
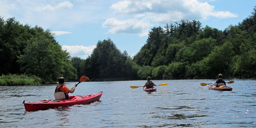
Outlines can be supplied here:
M112 27L108 33L139 33L140 36L148 34L148 28L151 26L150 23L144 20L138 19L127 19L117 20L116 18L109 18L103 24L102 27Z

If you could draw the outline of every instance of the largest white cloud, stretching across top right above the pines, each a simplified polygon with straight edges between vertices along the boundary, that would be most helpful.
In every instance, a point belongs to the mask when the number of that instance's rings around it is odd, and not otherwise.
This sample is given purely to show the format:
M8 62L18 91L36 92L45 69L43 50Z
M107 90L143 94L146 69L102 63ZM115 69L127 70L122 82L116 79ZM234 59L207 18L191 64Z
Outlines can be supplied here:
M214 8L207 2L200 3L197 0L121 1L111 6L111 9L114 9L118 14L146 14L152 21L158 19L158 22L161 22L159 15L162 15L161 19L169 17L169 22L172 21L173 17L181 17L183 19L197 18L197 20L205 19L208 16L237 17L236 14L229 11L215 11Z

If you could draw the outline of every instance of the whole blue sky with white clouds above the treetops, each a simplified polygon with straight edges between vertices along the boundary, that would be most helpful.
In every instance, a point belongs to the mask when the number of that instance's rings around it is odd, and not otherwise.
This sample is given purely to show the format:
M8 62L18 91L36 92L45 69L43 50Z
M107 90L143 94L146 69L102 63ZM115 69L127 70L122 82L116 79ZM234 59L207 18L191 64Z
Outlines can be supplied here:
M110 38L134 56L153 27L195 19L224 30L250 16L254 6L255 0L0 0L0 16L51 30L62 49L85 59L99 40Z

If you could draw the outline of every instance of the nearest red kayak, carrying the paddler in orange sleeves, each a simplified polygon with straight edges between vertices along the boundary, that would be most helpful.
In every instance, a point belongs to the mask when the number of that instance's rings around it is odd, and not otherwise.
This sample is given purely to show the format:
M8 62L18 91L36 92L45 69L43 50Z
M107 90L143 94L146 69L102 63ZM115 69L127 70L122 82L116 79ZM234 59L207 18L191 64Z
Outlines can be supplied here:
M70 96L68 100L41 100L39 102L23 101L26 111L47 110L57 108L59 106L72 106L75 104L88 104L99 101L102 92L85 96Z

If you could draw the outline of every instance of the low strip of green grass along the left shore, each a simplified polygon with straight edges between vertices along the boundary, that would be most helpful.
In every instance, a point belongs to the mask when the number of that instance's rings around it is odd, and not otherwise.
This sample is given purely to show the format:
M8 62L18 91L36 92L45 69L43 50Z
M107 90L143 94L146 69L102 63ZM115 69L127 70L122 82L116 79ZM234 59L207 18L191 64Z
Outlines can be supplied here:
M39 85L41 79L36 76L27 75L2 75L0 76L0 86L24 86L24 85Z

